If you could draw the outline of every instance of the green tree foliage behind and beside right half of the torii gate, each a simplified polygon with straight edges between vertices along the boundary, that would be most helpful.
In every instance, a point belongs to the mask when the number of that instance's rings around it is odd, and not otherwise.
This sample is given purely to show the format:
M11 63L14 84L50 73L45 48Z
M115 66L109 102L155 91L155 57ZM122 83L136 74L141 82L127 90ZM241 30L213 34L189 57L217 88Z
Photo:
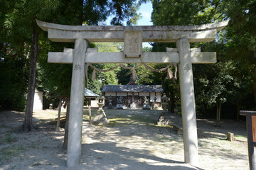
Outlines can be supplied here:
M215 103L251 103L248 96L255 94L256 103L256 1L174 1L154 0L151 21L154 25L198 25L229 19L230 23L218 33L215 42L191 43L191 47L201 47L202 51L217 52L217 64L193 64L196 107L200 114L206 108L215 108ZM189 8L188 8L189 6ZM165 51L175 44L154 43L153 51ZM153 78L163 79L161 75ZM168 82L165 91L173 91L178 96L175 81ZM250 97L249 97L250 98ZM251 100L251 99L250 99ZM245 104L243 104L245 106ZM249 109L255 107L251 106ZM230 113L228 113L230 114Z

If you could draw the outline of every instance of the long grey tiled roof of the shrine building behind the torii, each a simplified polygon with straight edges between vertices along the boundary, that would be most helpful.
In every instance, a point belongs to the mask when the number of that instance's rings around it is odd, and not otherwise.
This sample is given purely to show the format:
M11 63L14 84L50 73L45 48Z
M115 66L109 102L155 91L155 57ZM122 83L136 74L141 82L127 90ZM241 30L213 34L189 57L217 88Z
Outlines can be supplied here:
M102 92L164 92L161 85L105 85Z

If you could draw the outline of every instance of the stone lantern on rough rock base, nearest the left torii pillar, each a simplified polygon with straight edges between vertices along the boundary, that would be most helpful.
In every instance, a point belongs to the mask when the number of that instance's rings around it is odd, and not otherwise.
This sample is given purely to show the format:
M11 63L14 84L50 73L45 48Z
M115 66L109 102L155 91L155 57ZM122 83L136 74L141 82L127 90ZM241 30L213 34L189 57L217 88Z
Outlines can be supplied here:
M102 109L104 106L104 100L105 98L102 96L102 93L100 93L100 96L97 97L97 105L99 106L99 109L97 110L97 114L92 120L93 125L105 125L107 123L110 123L110 120L107 120L107 115L105 111Z

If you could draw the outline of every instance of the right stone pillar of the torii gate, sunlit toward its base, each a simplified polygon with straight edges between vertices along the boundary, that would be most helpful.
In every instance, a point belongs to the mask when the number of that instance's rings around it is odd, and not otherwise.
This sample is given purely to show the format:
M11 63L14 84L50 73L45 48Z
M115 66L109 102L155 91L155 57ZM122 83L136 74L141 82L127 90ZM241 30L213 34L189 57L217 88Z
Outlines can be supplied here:
M193 72L189 41L186 38L176 41L179 64L178 73L181 88L181 113L185 162L198 164L198 135L196 128L196 106L193 89Z

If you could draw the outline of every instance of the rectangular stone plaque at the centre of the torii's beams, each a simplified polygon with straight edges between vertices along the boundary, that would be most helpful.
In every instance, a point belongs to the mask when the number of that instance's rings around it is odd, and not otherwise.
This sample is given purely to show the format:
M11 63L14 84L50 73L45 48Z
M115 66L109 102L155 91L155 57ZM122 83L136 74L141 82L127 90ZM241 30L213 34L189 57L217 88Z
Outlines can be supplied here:
M142 56L142 31L124 31L124 57Z

